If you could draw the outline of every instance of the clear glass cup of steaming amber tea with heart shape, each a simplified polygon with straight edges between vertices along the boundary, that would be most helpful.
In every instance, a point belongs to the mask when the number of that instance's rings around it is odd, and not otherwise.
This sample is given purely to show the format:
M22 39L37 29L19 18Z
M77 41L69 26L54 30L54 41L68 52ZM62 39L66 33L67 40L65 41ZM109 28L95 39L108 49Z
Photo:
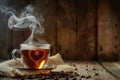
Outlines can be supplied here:
M15 53L21 53L22 64L29 69L45 68L50 55L50 44L21 44L20 50L13 50L12 56L16 60Z

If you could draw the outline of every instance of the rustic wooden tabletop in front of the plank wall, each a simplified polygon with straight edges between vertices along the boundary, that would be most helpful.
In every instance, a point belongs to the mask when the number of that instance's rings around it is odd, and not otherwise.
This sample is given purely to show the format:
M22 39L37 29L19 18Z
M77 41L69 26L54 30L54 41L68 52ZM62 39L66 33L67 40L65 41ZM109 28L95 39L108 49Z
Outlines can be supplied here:
M79 74L78 78L61 78L48 80L120 80L120 63L119 62L66 62L68 65L75 67ZM0 77L0 80L41 80L34 79L14 79Z

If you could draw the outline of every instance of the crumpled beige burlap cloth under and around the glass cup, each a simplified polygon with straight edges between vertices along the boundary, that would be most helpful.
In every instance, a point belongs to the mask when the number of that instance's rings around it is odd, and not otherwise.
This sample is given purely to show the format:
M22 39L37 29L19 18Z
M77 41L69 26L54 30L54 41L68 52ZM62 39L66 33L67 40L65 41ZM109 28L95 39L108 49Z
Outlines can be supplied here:
M48 58L48 66L54 66L55 68L51 71L60 72L60 71L73 71L74 68L66 65L60 54L56 54L55 56L51 56ZM16 76L29 76L34 74L40 74L41 70L22 70L17 67L23 67L20 63L20 59L18 61L11 59L0 63L0 75L8 76L8 77L16 77Z

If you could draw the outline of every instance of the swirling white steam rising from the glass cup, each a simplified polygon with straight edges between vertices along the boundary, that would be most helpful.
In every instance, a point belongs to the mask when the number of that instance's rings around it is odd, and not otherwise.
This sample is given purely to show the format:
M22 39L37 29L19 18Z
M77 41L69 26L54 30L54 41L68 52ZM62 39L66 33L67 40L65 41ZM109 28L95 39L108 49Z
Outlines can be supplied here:
M6 7L0 7L0 11L7 12L7 14L10 14L10 17L8 19L9 29L17 31L29 28L31 30L30 36L24 43L46 43L46 41L41 40L39 37L39 35L44 32L44 28L41 26L41 23L36 19L36 17L32 15L34 13L34 8L32 5L28 5L19 17L15 15L15 11L10 11ZM40 17L40 19L41 21L44 21L42 17Z

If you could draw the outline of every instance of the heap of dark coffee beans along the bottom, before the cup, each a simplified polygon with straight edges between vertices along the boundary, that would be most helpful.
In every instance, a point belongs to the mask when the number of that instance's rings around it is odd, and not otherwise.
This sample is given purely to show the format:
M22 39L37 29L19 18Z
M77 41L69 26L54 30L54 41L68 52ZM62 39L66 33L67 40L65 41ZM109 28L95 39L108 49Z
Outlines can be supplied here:
M73 80L77 80L74 77L78 77L80 76L77 72L50 72L49 74L44 74L44 73L40 73L40 74L36 74L36 75L30 75L30 76L26 76L21 78L21 80L25 80L25 79L35 79L35 78L39 78L40 80L47 80L47 79L53 79L53 80L59 80L59 78L64 78L65 80L69 80L72 79Z

